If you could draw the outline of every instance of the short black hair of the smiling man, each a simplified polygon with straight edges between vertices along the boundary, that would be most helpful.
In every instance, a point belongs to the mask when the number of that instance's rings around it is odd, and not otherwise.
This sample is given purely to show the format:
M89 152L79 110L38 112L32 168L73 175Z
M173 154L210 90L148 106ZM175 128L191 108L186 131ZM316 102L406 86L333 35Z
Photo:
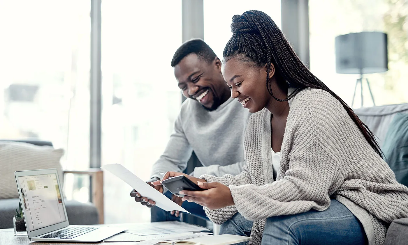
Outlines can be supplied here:
M200 60L205 60L208 64L211 64L215 57L217 57L210 46L202 39L191 39L184 42L174 53L171 66L177 66L184 57L191 53L195 53Z

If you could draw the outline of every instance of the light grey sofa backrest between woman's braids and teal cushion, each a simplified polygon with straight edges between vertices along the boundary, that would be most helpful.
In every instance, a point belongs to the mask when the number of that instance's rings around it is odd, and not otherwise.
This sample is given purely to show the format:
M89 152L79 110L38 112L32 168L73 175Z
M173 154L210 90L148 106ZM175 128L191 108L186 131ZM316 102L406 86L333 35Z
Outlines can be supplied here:
M408 113L408 103L353 109L360 120L378 137L382 149L392 119L397 113Z

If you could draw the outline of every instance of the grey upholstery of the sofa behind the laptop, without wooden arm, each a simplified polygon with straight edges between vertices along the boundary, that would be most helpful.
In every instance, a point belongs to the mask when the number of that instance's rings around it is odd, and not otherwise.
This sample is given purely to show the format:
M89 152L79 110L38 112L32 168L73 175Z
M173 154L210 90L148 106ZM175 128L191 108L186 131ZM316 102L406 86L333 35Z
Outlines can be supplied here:
M38 146L52 146L48 141L20 141ZM7 164L7 163L4 163ZM72 172L72 171L71 171ZM100 223L98 209L93 203L80 203L65 200L68 220L71 225L91 225ZM13 216L20 200L18 198L0 199L0 229L13 228Z

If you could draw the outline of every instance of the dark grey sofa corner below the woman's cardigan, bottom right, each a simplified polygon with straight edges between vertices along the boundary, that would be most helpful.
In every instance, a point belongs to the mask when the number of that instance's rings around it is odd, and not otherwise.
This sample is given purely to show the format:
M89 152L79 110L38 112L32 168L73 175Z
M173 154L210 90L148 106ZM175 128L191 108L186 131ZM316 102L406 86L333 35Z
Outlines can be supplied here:
M406 245L408 241L408 218L392 221L387 230L384 245Z

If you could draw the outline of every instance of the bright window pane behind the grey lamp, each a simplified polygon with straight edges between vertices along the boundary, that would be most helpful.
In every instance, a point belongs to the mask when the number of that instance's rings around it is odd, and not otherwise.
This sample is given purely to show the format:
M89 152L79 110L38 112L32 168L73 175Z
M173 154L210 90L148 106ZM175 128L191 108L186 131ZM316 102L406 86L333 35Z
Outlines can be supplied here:
M388 68L385 73L365 75L375 104L408 102L408 1L407 0L309 0L310 70L350 106L359 75L335 71L335 37L353 32L382 31L388 34ZM372 106L363 84L364 106ZM355 107L361 105L357 88Z

